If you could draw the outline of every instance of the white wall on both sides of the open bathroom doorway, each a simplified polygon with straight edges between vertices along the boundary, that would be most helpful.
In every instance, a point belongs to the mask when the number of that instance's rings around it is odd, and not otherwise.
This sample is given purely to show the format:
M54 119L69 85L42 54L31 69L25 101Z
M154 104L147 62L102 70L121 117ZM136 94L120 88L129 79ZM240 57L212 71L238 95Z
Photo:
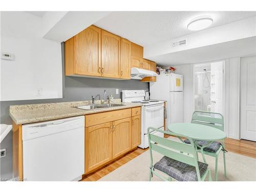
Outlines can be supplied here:
M193 64L175 66L176 73L184 77L184 122L190 122L194 112L194 74ZM224 129L228 138L240 139L239 136L239 78L240 58L225 60L225 113Z

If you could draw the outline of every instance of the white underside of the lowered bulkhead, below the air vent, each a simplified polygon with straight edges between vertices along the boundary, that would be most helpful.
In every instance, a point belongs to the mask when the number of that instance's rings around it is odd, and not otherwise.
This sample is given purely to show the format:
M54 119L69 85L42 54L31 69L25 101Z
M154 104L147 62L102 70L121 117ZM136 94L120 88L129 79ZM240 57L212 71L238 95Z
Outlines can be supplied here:
M160 66L174 66L233 57L255 56L255 54L256 36L253 36L221 44L158 55L148 59L161 63Z

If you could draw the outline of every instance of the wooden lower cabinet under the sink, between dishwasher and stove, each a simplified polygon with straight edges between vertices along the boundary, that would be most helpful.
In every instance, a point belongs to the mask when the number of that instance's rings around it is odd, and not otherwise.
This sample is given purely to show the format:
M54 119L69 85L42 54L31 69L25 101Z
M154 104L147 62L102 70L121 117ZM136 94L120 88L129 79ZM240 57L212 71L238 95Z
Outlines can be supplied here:
M141 116L132 116L132 111L140 109L137 107L86 115L85 174L117 159L140 144ZM106 122L107 120L110 122Z

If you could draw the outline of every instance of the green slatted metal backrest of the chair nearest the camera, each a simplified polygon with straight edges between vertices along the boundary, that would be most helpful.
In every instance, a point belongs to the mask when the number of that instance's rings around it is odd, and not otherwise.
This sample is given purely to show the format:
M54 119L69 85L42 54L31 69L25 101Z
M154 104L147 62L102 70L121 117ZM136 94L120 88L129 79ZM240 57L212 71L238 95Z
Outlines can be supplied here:
M185 137L183 135L178 135L173 132L166 132L162 130L155 129L153 127L148 127L147 136L148 136L148 144L150 146L150 158L151 158L151 167L153 166L153 156L152 151L156 151L164 156L172 158L174 160L192 165L196 167L197 177L200 181L200 172L197 161L197 153L194 146L194 141L191 138L187 139L190 141L190 144L173 141L167 138L159 137L157 135L151 134L152 131L161 132L170 136L176 137ZM180 153L183 152L183 153ZM190 154L190 155L187 155Z

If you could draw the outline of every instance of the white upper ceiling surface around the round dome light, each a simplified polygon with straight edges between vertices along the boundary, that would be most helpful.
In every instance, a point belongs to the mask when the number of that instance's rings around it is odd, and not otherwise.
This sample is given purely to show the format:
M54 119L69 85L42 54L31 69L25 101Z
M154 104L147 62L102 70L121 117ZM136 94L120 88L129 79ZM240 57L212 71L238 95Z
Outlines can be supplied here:
M217 27L256 15L250 11L127 11L112 12L94 25L127 38L141 46L195 33L187 24L195 17L214 19L209 27ZM197 32L197 31L196 31Z

